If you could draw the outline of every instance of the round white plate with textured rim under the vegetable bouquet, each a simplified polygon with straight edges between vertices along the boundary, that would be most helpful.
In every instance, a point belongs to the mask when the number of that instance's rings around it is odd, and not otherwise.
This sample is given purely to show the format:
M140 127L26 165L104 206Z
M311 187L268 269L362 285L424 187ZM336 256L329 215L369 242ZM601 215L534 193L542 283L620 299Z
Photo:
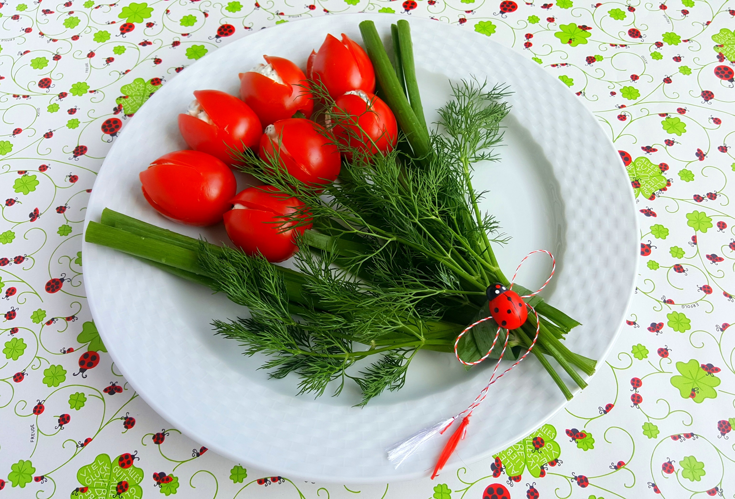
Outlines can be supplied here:
M87 220L104 207L196 236L197 230L157 215L140 193L138 173L151 160L186 148L176 115L193 90L237 95L237 73L279 55L304 66L326 34L362 40L358 24L376 22L386 43L397 16L349 14L289 22L244 37L176 76L127 123L94 186ZM548 302L584 323L569 334L574 351L601 361L612 347L634 289L637 221L628 176L609 138L567 87L524 59L467 28L412 19L416 64L426 110L448 99L448 80L475 75L514 91L503 160L479 165L475 184L489 190L484 209L514 236L498 250L506 273L536 248L559 262ZM434 118L435 113L429 113ZM222 240L221 227L204 231ZM212 335L213 318L245 315L221 295L189 284L108 248L83 246L90 310L105 345L137 392L192 439L236 462L310 481L378 483L426 475L445 437L395 470L384 449L464 409L487 382L487 366L469 373L447 353L426 352L409 370L406 388L365 409L356 390L340 397L295 396L294 378L273 381L262 358L240 355ZM535 257L534 257L535 258ZM532 259L526 287L548 272ZM562 372L563 373L563 372ZM570 380L567 379L571 386ZM493 385L476 411L468 438L447 466L475 462L516 442L565 403L537 360L529 358Z

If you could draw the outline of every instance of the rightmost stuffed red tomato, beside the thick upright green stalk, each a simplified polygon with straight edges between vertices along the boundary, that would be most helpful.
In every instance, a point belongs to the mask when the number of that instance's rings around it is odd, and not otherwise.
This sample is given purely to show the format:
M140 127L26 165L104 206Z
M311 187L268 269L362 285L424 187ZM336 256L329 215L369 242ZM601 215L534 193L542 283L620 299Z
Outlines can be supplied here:
M351 90L335 101L333 112L348 113L351 118L334 126L340 144L362 152L385 154L398 143L398 124L387 104L372 93Z

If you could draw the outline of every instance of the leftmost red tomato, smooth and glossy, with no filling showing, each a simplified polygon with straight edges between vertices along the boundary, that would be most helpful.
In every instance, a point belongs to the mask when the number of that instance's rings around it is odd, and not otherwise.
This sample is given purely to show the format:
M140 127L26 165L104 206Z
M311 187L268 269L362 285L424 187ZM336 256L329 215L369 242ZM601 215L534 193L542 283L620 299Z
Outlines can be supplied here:
M140 182L146 200L161 215L193 226L222 220L237 192L232 170L199 151L164 154L140 172Z

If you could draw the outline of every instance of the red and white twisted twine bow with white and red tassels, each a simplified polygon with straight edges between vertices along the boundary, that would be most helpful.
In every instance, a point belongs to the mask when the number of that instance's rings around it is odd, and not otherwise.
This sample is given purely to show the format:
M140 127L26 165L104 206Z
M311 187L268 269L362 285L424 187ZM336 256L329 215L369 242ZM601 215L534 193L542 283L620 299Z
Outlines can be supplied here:
M542 285L542 287L539 287L538 290L535 292L532 292L529 295L523 295L521 298L531 298L531 296L537 295L541 290L543 290L546 285L551 281L551 278L553 277L554 271L556 270L556 259L554 258L553 254L551 254L549 251L546 250L535 250L531 251L531 253L527 254L518 264L518 267L515 269L515 273L513 274L513 279L511 279L509 289L513 289L513 284L515 281L516 276L518 275L518 270L520 270L521 266L523 265L523 262L526 262L526 259L528 259L528 256L531 256L534 253L545 253L548 254L548 256L551 257L551 273L546 279L545 283ZM444 434L445 431L447 431L455 420L462 417L462 423L460 423L459 428L456 429L454 434L450 437L449 442L445 446L444 450L442 451L442 454L440 455L440 458L437 462L437 467L434 469L434 474L431 475L431 478L434 478L437 473L439 473L439 470L442 469L444 464L448 461L449 457L451 456L451 453L453 453L454 448L456 448L457 443L459 440L465 439L465 436L467 434L467 424L469 424L470 416L472 415L472 412L479 406L482 401L485 400L487 397L487 392L490 389L490 385L495 383L495 381L498 381L498 379L502 378L506 375L510 370L513 369L513 367L520 364L520 362L523 359L526 359L526 356L528 356L529 353L534 349L534 345L536 345L536 342L539 338L539 330L541 329L541 321L539 319L538 312L536 312L536 309L534 309L533 306L526 304L526 306L531 309L531 312L534 312L534 316L536 317L536 335L534 336L534 340L531 342L531 345L526 350L526 353L523 353L523 356L520 357L516 362L513 363L510 367L508 367L506 370L504 370L500 375L495 376L495 373L498 371L498 367L500 367L501 360L503 360L503 355L506 352L506 348L508 347L508 339L509 334L506 333L505 342L503 343L503 350L501 350L500 355L498 356L498 362L495 363L495 367L492 369L492 375L490 376L490 381L488 381L487 385L480 391L480 393L477 395L475 400L470 403L469 406L467 406L467 409L460 412L459 414L456 414L453 417L450 417L446 420L442 420L439 423L435 424L434 426L431 426L429 428L424 428L421 431L418 431L416 434L413 434L411 437L398 442L397 444L393 445L392 447L387 449L388 453L388 460L395 464L395 467L401 465L409 456L411 456L413 453L415 453L418 448L420 448L421 445L423 445L424 442L431 439L431 437L434 437L436 434ZM490 353L495 349L495 344L498 342L498 337L500 337L501 327L498 326L498 330L495 331L495 338L492 340L492 345L490 346L490 350L485 353L484 356L482 356L481 359L476 360L475 362L465 362L462 359L459 358L459 353L457 352L457 345L459 345L459 340L467 333L467 331L470 331L473 327L477 326L480 323L483 323L486 320L490 320L492 317L483 317L482 319L470 324L470 326L467 326L461 333L459 333L459 336L456 338L454 342L454 356L456 356L456 359L459 360L459 362L462 362L464 365L477 365L480 362L487 359L487 357L490 356ZM463 417L464 416L464 417Z

